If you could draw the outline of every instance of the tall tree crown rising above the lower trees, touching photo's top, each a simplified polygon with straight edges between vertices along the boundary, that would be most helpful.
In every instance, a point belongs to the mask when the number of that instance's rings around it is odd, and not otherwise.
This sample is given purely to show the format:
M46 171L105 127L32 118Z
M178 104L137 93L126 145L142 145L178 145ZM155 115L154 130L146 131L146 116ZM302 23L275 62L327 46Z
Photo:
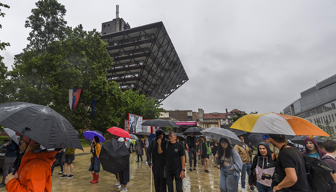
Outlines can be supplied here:
M25 51L37 51L44 54L53 41L65 38L66 24L64 16L67 12L64 5L56 0L40 0L35 3L25 27L32 28L27 40L30 42Z

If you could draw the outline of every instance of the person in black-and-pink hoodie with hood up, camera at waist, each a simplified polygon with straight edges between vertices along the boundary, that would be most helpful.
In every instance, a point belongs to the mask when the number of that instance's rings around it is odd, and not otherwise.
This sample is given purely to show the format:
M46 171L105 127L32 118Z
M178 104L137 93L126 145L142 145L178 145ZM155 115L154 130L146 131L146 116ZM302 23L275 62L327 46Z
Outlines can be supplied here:
M277 163L273 161L272 159L272 151L269 148L268 143L261 142L258 145L258 154L254 156L253 163L251 166L251 173L253 173L255 169L255 174L257 177L256 186L259 192L272 192L271 184L272 180L265 179L262 180L261 176L262 174L269 174L273 175L275 167L277 166ZM251 174L250 177L253 177ZM250 178L249 178L250 181ZM249 183L249 185L252 185L253 183Z

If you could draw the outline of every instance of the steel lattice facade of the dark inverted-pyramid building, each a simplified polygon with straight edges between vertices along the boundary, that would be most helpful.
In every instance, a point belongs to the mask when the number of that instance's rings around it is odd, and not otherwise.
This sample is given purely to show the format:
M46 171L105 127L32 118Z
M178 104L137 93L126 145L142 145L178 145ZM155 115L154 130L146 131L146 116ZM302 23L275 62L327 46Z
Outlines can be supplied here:
M132 88L160 103L182 86L188 76L162 22L102 35L109 43L113 67L107 79Z

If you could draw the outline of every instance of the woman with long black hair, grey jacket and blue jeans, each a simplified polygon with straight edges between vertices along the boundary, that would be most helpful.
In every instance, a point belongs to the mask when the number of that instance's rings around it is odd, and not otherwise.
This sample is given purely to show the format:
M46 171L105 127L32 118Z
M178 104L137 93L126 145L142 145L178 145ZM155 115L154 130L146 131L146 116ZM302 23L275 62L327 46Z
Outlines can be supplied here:
M215 162L220 165L219 189L221 192L238 191L243 162L226 138L220 138Z

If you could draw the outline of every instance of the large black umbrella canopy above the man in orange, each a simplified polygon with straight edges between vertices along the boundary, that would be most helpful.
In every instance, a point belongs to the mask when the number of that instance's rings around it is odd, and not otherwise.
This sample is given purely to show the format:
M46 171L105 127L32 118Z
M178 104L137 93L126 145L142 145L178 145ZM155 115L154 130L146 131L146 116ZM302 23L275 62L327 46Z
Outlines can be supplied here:
M45 148L82 149L70 122L48 106L24 102L0 104L0 125L25 135Z

